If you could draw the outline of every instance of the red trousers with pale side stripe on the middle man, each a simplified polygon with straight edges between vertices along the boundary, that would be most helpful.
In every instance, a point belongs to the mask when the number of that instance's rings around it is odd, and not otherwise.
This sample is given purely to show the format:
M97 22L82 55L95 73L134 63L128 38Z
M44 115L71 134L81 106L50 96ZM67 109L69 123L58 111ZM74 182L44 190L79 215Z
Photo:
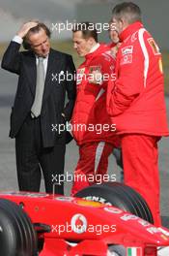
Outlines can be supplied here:
M108 156L112 150L113 145L105 142L79 146L79 160L74 171L71 195L94 183L107 181L105 175L108 167Z

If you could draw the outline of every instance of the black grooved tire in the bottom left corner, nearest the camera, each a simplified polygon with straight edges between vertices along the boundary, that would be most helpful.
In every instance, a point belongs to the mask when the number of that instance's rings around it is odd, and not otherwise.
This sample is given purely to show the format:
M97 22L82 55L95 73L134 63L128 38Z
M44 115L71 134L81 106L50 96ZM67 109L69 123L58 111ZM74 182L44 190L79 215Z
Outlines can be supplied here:
M4 256L38 255L37 234L30 218L6 199L0 199L0 244Z

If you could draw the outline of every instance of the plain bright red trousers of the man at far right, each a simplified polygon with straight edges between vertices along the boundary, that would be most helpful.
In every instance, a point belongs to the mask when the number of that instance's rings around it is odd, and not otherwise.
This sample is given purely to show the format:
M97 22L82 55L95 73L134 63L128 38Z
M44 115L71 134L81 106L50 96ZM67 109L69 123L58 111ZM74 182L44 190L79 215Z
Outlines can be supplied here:
M150 207L155 226L161 225L157 141L159 137L123 135L125 183L135 189Z

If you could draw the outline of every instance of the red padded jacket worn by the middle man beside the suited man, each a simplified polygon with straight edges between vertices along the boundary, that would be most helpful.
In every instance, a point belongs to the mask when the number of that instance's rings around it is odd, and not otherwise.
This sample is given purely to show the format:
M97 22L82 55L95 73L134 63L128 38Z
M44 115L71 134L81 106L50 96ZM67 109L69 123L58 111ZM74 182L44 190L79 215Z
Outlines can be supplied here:
M101 84L89 81L95 70L103 76ZM105 45L87 54L77 69L77 97L71 118L72 134L77 144L103 141L119 145L116 127L106 111L107 83L114 79L114 71L115 59Z

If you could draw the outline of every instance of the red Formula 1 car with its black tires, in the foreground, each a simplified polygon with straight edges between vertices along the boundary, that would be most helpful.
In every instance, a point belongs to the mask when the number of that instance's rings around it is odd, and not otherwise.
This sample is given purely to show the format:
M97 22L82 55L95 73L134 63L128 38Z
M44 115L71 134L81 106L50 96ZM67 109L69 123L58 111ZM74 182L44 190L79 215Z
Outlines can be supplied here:
M169 255L169 230L151 224L147 204L128 186L108 182L76 196L1 192L0 255Z

